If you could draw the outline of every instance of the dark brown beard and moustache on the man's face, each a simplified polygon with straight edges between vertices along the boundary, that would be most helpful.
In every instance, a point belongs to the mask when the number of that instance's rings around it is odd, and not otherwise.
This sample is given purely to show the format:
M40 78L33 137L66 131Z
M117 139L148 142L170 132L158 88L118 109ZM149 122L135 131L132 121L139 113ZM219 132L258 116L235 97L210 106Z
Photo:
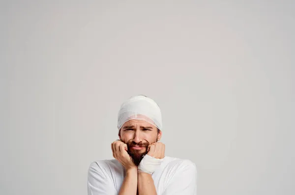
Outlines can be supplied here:
M135 166L139 166L140 162L143 160L143 158L145 157L146 154L148 154L148 145L149 143L148 142L139 142L139 143L135 143L133 141L128 141L127 143L127 147L128 147L128 154L130 155L133 163L135 164ZM138 145L138 146L141 146L141 147L145 147L146 148L146 151L145 152L140 152L140 150L134 150L134 149L131 149L132 146L135 146L135 145ZM132 151L131 151L132 150Z

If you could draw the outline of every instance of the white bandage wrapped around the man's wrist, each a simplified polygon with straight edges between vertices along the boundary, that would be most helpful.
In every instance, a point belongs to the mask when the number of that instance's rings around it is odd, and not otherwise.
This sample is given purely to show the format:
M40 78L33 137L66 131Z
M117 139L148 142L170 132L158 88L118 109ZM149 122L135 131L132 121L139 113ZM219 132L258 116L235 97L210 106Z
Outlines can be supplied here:
M163 160L164 159L156 159L149 155L146 155L137 168L138 172L152 174L158 167L160 167Z

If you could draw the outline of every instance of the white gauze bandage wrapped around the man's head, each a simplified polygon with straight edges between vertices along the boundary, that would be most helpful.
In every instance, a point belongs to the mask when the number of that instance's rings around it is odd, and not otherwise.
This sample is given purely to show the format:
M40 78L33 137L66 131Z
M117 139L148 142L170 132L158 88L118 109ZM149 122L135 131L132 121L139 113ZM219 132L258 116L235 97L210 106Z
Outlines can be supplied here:
M131 97L121 105L118 112L118 130L125 122L132 119L145 120L162 130L161 110L155 101L146 96Z

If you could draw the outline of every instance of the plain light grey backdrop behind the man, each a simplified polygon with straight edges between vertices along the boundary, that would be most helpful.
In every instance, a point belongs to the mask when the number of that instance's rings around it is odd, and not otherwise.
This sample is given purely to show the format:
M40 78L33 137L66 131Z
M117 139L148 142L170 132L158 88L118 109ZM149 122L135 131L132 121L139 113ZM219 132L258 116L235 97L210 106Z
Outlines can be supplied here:
M0 195L86 195L144 94L198 195L295 194L295 1L0 3Z

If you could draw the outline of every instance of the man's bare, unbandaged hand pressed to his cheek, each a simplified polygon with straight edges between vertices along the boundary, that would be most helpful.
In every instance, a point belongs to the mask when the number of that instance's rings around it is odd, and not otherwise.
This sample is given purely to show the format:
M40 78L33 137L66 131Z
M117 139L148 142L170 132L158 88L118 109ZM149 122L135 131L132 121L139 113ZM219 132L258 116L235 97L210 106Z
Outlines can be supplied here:
M113 151L113 157L117 159L123 167L126 168L126 170L136 168L134 165L130 155L127 153L127 144L120 140L116 140L111 144L112 151Z

